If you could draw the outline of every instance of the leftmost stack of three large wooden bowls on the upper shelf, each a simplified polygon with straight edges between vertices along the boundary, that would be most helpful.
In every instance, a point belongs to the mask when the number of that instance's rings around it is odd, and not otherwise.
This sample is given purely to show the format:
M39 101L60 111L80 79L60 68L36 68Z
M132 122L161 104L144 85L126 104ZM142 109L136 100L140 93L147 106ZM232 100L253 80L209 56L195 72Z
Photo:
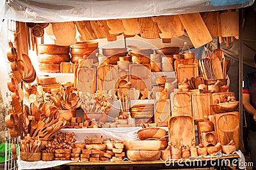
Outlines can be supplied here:
M47 73L60 73L61 62L70 62L69 46L38 45L38 68Z

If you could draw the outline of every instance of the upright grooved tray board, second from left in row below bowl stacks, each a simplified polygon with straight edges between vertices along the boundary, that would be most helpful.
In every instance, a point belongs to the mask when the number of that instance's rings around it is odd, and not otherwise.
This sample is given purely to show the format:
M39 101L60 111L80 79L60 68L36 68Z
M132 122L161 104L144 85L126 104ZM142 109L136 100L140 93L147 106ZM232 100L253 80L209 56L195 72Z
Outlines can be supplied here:
M116 65L100 65L97 69L97 90L117 89L118 71Z

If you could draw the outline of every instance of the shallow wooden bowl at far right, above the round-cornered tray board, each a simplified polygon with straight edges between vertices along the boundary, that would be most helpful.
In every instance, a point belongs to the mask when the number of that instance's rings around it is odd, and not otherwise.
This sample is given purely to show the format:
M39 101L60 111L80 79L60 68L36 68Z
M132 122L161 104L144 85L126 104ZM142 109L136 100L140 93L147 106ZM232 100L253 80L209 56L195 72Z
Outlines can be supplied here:
M210 106L214 113L225 113L225 112L230 112L230 111L236 111L239 106L239 101L213 104Z

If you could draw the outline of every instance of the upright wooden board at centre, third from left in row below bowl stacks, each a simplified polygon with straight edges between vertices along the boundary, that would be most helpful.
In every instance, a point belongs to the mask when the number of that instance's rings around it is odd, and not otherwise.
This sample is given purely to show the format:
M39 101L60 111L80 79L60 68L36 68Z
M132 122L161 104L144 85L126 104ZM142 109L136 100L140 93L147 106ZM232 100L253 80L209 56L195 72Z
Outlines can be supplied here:
M150 64L129 64L129 81L131 88L151 90Z

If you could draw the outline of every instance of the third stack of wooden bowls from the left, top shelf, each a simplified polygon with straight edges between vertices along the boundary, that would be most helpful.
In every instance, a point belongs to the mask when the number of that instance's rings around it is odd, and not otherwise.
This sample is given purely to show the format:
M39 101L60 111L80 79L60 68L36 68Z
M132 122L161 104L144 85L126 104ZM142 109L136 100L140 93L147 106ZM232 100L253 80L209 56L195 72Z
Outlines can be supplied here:
M106 56L108 64L117 64L119 57L125 57L126 48L102 48L102 54Z

